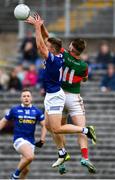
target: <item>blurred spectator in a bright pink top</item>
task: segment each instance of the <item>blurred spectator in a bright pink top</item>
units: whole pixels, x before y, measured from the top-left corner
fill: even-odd
[[[23,80],[24,87],[33,87],[37,85],[38,75],[34,64],[31,64],[29,70],[25,74],[25,79]]]

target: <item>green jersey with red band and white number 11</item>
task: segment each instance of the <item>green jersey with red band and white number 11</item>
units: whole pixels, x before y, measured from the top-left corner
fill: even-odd
[[[81,80],[88,76],[88,65],[65,50],[62,53],[64,57],[62,88],[70,93],[80,93]]]

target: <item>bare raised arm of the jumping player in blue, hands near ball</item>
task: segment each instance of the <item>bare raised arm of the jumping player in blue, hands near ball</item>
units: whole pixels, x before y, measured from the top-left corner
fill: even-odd
[[[42,32],[41,32],[41,29],[42,29],[41,26],[43,26],[43,20],[40,19],[39,15],[35,15],[34,18],[30,16],[26,22],[34,25],[38,51],[44,59],[47,59],[49,51],[47,49],[47,46],[45,45],[44,39],[42,37]]]

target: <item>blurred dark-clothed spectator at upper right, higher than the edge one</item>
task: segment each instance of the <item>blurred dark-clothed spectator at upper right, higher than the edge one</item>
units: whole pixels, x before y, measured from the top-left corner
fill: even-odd
[[[96,57],[96,69],[107,69],[107,65],[113,63],[112,52],[110,46],[106,41],[100,44],[99,52]]]

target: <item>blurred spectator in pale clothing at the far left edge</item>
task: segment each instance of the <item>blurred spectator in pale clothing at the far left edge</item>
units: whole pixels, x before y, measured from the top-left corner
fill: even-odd
[[[0,69],[0,90],[7,90],[9,76],[3,70]]]

